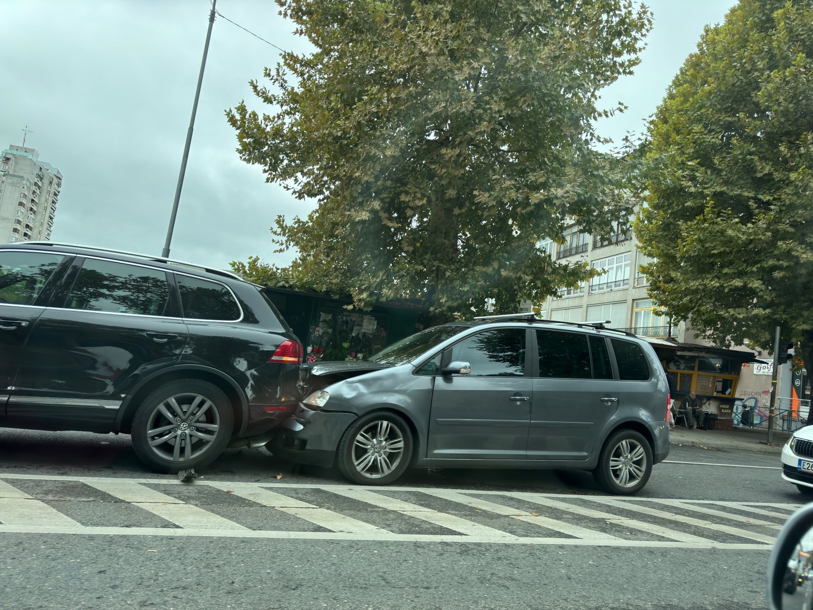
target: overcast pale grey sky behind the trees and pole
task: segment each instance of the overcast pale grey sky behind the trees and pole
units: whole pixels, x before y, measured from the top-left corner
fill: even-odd
[[[653,0],[649,46],[635,76],[606,89],[628,105],[599,124],[641,133],[706,24],[734,0]],[[167,230],[206,37],[209,0],[2,0],[0,149],[22,144],[63,173],[52,239],[159,255]],[[272,0],[219,0],[228,19],[284,49],[307,41]],[[218,19],[211,37],[171,256],[228,268],[258,254],[276,264],[268,228],[307,215],[260,168],[237,156],[224,110],[253,97],[248,81],[278,51]]]

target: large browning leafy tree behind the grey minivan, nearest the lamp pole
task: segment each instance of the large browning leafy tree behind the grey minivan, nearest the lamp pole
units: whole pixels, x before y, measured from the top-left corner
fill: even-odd
[[[592,275],[537,246],[626,217],[620,162],[593,150],[600,89],[637,65],[632,0],[277,0],[315,46],[283,54],[273,114],[228,111],[238,151],[298,198],[281,272],[367,307],[422,298],[438,316],[513,311]],[[280,272],[280,270],[275,270]]]

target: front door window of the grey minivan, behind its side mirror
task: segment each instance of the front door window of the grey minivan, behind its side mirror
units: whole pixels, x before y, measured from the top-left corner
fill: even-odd
[[[478,377],[522,377],[525,330],[489,330],[464,339],[452,347],[451,362],[471,364]]]

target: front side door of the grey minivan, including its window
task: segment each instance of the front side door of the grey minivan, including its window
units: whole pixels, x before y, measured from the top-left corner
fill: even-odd
[[[435,379],[428,458],[524,459],[533,401],[528,332],[489,330],[450,348],[445,362],[467,362],[472,373]]]

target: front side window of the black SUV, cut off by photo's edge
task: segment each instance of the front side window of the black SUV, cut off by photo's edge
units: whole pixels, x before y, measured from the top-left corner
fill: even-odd
[[[0,252],[0,303],[33,305],[64,258],[48,252]]]

